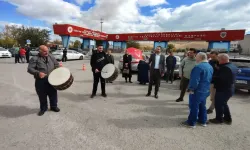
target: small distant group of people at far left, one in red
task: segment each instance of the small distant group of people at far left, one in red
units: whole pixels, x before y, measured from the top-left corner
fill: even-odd
[[[30,60],[30,47],[22,46],[15,47],[14,50],[15,63],[29,63]]]

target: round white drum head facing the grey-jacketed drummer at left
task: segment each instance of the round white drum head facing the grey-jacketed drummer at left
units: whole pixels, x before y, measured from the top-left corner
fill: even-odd
[[[49,75],[49,83],[54,86],[61,85],[70,78],[70,71],[65,67],[60,67],[53,70]]]

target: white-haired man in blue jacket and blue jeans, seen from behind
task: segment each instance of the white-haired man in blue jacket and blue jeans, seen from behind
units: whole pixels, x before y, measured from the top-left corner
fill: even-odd
[[[213,76],[213,68],[207,61],[207,54],[200,52],[196,56],[197,65],[192,69],[189,91],[189,109],[188,120],[182,124],[195,128],[196,122],[206,126],[207,110],[206,99],[210,94],[210,83]]]

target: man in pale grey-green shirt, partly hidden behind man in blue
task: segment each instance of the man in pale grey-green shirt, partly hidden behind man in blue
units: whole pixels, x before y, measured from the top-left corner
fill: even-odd
[[[188,57],[184,58],[181,62],[181,69],[180,69],[180,76],[181,78],[181,93],[180,97],[176,100],[176,102],[182,102],[183,98],[185,96],[188,84],[189,84],[189,79],[190,79],[190,74],[192,69],[194,68],[196,62],[195,62],[195,55],[196,55],[196,50],[194,48],[190,48],[188,51]]]

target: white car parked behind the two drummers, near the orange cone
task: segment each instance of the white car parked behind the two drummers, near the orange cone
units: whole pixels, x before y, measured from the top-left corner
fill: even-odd
[[[52,53],[52,55],[54,55],[54,57],[57,60],[62,60],[63,57],[63,51],[62,50],[56,50]],[[82,53],[79,53],[77,51],[74,50],[67,50],[67,59],[68,60],[83,60],[83,58],[85,57],[85,55],[83,55]]]

